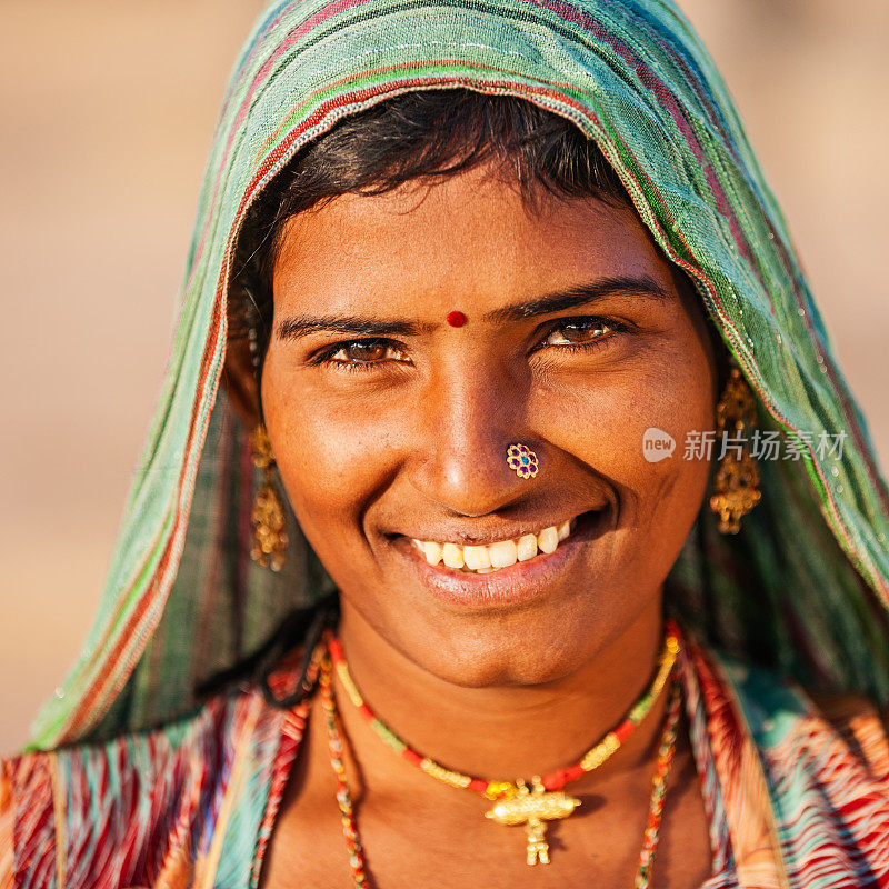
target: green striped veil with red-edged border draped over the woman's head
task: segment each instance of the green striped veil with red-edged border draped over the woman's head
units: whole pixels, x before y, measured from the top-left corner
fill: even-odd
[[[739,535],[720,535],[705,502],[668,579],[677,607],[729,652],[889,701],[887,486],[731,98],[673,3],[277,0],[224,97],[100,611],[31,747],[188,711],[197,686],[330,591],[292,515],[286,570],[249,558],[258,479],[220,386],[238,232],[262,188],[340,118],[455,87],[520,97],[596,141],[696,282],[760,428],[798,446],[798,459],[760,461],[762,501]]]

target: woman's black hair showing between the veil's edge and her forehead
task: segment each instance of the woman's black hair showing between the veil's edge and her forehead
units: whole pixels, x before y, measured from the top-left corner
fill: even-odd
[[[580,128],[511,96],[420,90],[348,116],[307,144],[256,199],[238,238],[229,301],[232,337],[247,337],[257,377],[271,333],[272,273],[287,220],[340,194],[382,194],[483,163],[530,206],[541,190],[632,208],[618,174]]]

